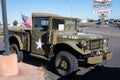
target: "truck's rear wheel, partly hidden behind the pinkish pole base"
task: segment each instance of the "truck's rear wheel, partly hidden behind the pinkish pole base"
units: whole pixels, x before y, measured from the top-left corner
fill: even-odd
[[[10,50],[11,50],[12,53],[17,54],[18,62],[21,62],[23,60],[23,52],[19,51],[19,48],[16,44],[11,44]]]

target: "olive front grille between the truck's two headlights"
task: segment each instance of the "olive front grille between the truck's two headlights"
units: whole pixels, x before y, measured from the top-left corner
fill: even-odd
[[[101,39],[91,40],[90,41],[90,50],[102,48],[101,44],[102,44],[102,40]]]

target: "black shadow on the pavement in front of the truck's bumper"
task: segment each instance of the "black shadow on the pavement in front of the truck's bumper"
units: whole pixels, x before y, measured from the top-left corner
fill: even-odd
[[[84,75],[74,73],[61,77],[58,80],[118,80],[120,79],[120,68],[98,67]]]

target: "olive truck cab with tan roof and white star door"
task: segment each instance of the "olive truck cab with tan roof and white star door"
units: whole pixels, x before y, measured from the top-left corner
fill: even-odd
[[[33,53],[48,55],[51,48],[64,43],[65,33],[76,32],[77,18],[65,18],[54,14],[33,13],[32,46]],[[66,34],[67,35],[67,34]],[[65,44],[65,43],[64,43]],[[52,54],[53,55],[53,54]]]

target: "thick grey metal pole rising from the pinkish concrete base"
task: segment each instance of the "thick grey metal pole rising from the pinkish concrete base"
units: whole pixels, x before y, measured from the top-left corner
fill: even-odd
[[[3,29],[4,29],[4,43],[5,43],[5,53],[3,55],[10,55],[9,41],[8,41],[8,27],[7,27],[7,10],[6,10],[6,0],[1,0],[2,16],[3,16]]]

